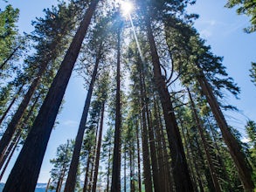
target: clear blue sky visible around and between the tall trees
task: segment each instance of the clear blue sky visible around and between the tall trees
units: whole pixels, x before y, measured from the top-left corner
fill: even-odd
[[[1,0],[0,0],[1,1]],[[19,29],[20,32],[30,32],[31,20],[43,16],[42,10],[57,3],[56,0],[10,0],[14,7],[20,9]],[[6,3],[1,1],[0,7]],[[201,33],[201,37],[211,45],[212,51],[224,57],[224,65],[227,72],[241,87],[239,100],[227,96],[226,102],[237,106],[246,117],[256,120],[256,87],[250,81],[249,69],[251,62],[256,62],[256,33],[246,34],[243,28],[248,26],[249,19],[237,16],[234,9],[224,7],[225,1],[220,0],[197,0],[197,4],[190,7],[190,12],[200,15],[195,27]],[[79,126],[80,115],[86,99],[86,90],[83,88],[82,80],[73,73],[65,95],[65,104],[62,113],[59,114],[59,124],[52,131],[48,144],[41,173],[38,182],[47,182],[52,168],[49,160],[54,157],[59,144],[65,143],[67,139],[74,139]],[[244,133],[246,117],[240,113],[225,113],[230,125]],[[15,161],[14,159],[12,160]],[[9,168],[10,171],[10,168]],[[5,182],[8,172],[4,175]]]

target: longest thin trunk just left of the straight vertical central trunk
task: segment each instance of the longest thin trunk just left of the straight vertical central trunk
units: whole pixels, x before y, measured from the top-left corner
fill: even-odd
[[[103,120],[104,120],[104,111],[105,111],[105,101],[102,102],[101,106],[101,114],[100,114],[100,133],[98,137],[97,143],[97,153],[96,153],[96,162],[95,162],[95,170],[94,170],[94,178],[93,178],[93,192],[96,191],[97,180],[98,180],[98,172],[99,172],[99,164],[100,164],[100,147],[101,147],[101,138],[102,138],[102,130],[103,130]]]

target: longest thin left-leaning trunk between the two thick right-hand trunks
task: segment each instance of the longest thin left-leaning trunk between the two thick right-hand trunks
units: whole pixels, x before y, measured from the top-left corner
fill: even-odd
[[[203,132],[203,127],[201,126],[201,122],[200,122],[199,117],[197,115],[196,105],[194,103],[194,100],[192,99],[192,96],[191,96],[191,93],[190,93],[190,89],[187,88],[187,90],[188,90],[189,97],[190,97],[191,109],[192,109],[193,114],[194,114],[193,116],[194,116],[194,118],[196,120],[197,128],[198,128],[201,140],[203,142],[204,152],[206,154],[206,159],[207,159],[207,162],[208,162],[208,165],[209,165],[209,168],[210,168],[210,172],[211,172],[211,179],[212,179],[212,182],[214,184],[215,190],[217,192],[220,192],[221,191],[221,187],[220,187],[219,182],[218,182],[217,172],[216,172],[216,170],[214,168],[214,165],[212,163],[212,160],[211,160],[211,154],[210,154],[210,151],[209,151],[210,150],[209,144],[205,140],[204,132]]]

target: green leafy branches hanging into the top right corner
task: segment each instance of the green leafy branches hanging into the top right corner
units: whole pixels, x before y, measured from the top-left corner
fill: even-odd
[[[245,14],[251,17],[251,26],[247,27],[245,31],[247,33],[256,31],[256,2],[255,0],[228,0],[225,4],[227,8],[233,8],[238,6],[237,13]]]

